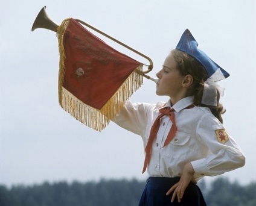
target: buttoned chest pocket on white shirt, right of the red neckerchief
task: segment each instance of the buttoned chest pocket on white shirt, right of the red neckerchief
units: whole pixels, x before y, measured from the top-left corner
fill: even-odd
[[[171,142],[164,148],[161,148],[161,155],[163,157],[185,160],[188,152],[189,140],[190,134],[177,131],[173,140],[171,140]]]

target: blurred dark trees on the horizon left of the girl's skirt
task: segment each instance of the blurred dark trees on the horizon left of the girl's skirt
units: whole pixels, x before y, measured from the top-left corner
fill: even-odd
[[[43,183],[35,186],[0,186],[0,206],[99,206],[138,205],[145,182],[105,180],[68,184]]]

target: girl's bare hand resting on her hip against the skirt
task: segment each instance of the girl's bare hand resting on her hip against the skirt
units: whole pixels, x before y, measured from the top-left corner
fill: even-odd
[[[192,183],[196,184],[196,180],[194,179],[194,168],[191,163],[187,163],[182,170],[181,179],[179,179],[179,182],[174,184],[174,186],[172,186],[171,189],[166,193],[166,195],[170,195],[170,193],[174,191],[171,202],[174,201],[176,196],[178,198],[178,202],[181,202],[185,189],[188,187],[188,184],[190,184],[191,181]]]

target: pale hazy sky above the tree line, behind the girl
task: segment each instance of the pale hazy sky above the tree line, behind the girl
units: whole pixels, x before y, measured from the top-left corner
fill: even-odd
[[[147,178],[141,175],[141,137],[113,122],[101,133],[94,131],[60,107],[56,34],[45,29],[31,32],[45,5],[57,24],[67,17],[81,19],[150,57],[154,67],[149,75],[154,78],[188,28],[199,49],[231,75],[220,83],[226,88],[223,120],[245,153],[246,165],[222,176],[240,184],[256,181],[255,0],[16,0],[0,2],[0,184]],[[130,100],[167,101],[167,96],[155,95],[155,87],[145,79]]]

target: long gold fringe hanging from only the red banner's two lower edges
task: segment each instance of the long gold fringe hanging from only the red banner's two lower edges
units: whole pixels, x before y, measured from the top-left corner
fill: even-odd
[[[86,126],[102,131],[109,124],[110,119],[119,113],[130,96],[143,84],[143,76],[139,73],[142,73],[142,65],[132,72],[101,110],[86,105],[64,87],[61,90],[60,105],[63,110]]]

